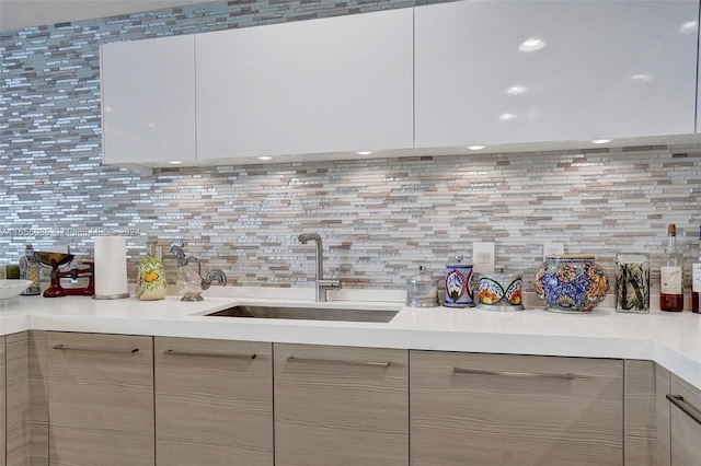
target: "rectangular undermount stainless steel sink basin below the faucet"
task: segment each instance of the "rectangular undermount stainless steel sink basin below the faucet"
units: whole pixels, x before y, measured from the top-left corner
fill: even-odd
[[[399,310],[353,310],[334,307],[285,307],[238,305],[218,311],[211,317],[290,318],[302,321],[390,322]]]

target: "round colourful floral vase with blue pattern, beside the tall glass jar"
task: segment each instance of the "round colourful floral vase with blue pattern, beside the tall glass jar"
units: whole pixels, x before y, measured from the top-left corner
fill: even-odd
[[[594,256],[547,256],[533,277],[536,293],[549,311],[588,313],[609,291],[609,276]]]

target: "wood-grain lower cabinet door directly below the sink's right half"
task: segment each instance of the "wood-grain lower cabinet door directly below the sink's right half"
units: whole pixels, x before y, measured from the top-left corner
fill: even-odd
[[[407,356],[275,343],[275,466],[406,466]]]

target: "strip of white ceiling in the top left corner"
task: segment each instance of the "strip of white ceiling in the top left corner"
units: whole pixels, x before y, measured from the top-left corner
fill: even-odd
[[[0,31],[91,20],[211,0],[0,0]]]

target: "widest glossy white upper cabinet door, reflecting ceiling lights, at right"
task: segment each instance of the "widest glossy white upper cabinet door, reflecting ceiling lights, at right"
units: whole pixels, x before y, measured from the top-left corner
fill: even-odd
[[[415,9],[415,145],[694,131],[699,2]]]

